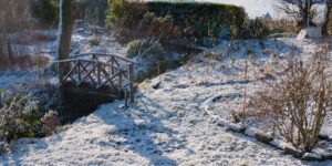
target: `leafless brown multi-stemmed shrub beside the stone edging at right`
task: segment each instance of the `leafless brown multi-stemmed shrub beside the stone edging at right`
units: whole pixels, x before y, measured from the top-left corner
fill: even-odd
[[[317,144],[331,106],[326,52],[323,46],[309,61],[290,60],[290,70],[277,81],[266,82],[267,89],[251,103],[251,108],[259,111],[257,115],[272,117],[273,128],[303,152]]]

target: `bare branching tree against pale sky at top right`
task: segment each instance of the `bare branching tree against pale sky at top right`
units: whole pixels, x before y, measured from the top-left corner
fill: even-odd
[[[315,25],[312,21],[315,11],[312,10],[313,4],[320,3],[321,0],[282,0],[280,9],[292,17],[298,27]]]

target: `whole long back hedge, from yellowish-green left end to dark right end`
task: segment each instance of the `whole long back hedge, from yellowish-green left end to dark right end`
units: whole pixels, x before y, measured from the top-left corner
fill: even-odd
[[[241,7],[200,2],[128,2],[125,0],[110,1],[106,25],[116,35],[148,38],[152,29],[146,29],[146,15],[154,15],[148,27],[166,27],[168,31],[178,33],[177,38],[191,43],[201,43],[204,38],[239,39],[245,33],[247,14]],[[158,21],[158,20],[166,20]],[[169,21],[170,20],[170,23]],[[168,22],[168,25],[165,23]],[[153,25],[152,25],[153,23]],[[160,25],[162,24],[162,25]],[[226,31],[225,31],[226,30]],[[132,34],[131,34],[132,33]],[[141,34],[141,35],[139,35]],[[160,33],[153,33],[159,37]],[[169,35],[169,34],[164,34]],[[133,38],[133,39],[131,39]],[[162,37],[163,38],[163,37]],[[177,38],[173,41],[179,41]],[[168,39],[172,41],[172,39]],[[162,41],[162,43],[164,43]]]

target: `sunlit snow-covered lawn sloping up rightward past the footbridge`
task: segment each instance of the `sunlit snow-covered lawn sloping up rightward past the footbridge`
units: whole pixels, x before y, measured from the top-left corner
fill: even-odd
[[[259,85],[260,69],[273,70],[278,60],[313,53],[315,41],[294,38],[266,41],[224,41],[211,51],[222,60],[197,55],[188,64],[138,85],[136,103],[124,101],[100,106],[50,137],[23,138],[2,165],[332,165],[307,163],[243,135],[226,132],[207,114],[206,102],[222,95],[214,105],[216,116],[231,118],[241,106],[246,86]],[[229,49],[231,45],[231,49]],[[248,53],[252,54],[250,58]],[[249,77],[243,81],[245,62]],[[159,87],[153,89],[160,82]],[[238,103],[238,104],[237,104]],[[329,124],[329,123],[326,123]],[[330,131],[331,127],[324,129]]]

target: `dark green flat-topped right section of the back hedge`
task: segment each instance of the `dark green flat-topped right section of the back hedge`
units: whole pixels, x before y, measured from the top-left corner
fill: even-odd
[[[170,14],[185,35],[197,39],[217,38],[222,29],[229,37],[240,38],[247,14],[242,7],[200,2],[147,2],[148,10],[157,17]],[[191,29],[186,31],[187,29]],[[235,33],[236,32],[236,33]]]

